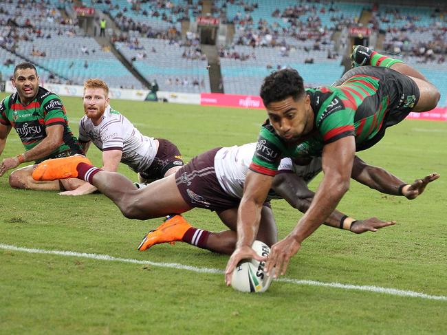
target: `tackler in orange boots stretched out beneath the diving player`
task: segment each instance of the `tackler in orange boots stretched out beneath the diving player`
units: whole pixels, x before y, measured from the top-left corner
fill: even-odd
[[[241,147],[206,151],[182,166],[175,175],[157,180],[141,189],[136,189],[127,177],[119,173],[91,166],[82,156],[75,156],[70,160],[47,160],[36,168],[33,176],[44,180],[52,177],[76,176],[86,180],[109,197],[125,217],[131,219],[151,219],[180,214],[195,207],[215,210],[223,224],[230,230],[211,233],[194,228],[182,216],[174,215],[146,235],[139,249],[146,250],[154,244],[185,241],[199,248],[230,254],[235,250],[237,208],[255,149],[256,143],[252,143]],[[402,180],[383,169],[369,166],[359,158],[356,158],[355,166],[353,178],[385,193],[414,198],[424,191],[426,185],[415,183],[399,188],[404,184]],[[292,171],[294,173],[291,173]],[[283,173],[276,175],[272,191],[277,193],[276,197],[283,197],[295,208],[305,211],[313,196],[307,188],[307,182],[320,171],[320,158],[308,161],[305,166],[292,166],[291,160],[286,158],[281,164]],[[430,176],[424,180],[427,183]],[[272,197],[275,197],[273,193],[268,199]],[[264,202],[260,215],[261,225],[257,239],[272,246],[276,242],[277,234],[268,202]],[[351,230],[354,233],[375,231],[395,223],[380,221],[375,217],[355,221],[337,210],[329,215],[326,222],[330,226]]]

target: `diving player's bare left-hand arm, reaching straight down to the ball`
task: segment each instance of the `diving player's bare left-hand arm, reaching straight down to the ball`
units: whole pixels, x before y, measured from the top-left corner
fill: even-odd
[[[259,229],[261,210],[268,195],[273,177],[254,171],[248,171],[243,188],[243,197],[237,211],[236,249],[228,260],[225,270],[226,285],[230,285],[232,272],[242,259],[254,258],[265,261],[251,248]]]

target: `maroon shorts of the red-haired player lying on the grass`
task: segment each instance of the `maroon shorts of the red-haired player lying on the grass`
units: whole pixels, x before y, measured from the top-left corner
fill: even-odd
[[[140,175],[146,180],[158,180],[164,177],[164,174],[174,166],[183,166],[183,158],[179,149],[164,138],[158,140],[157,155],[153,159],[151,166],[146,171],[140,171]]]

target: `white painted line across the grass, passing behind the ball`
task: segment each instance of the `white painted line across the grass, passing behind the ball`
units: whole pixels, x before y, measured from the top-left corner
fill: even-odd
[[[120,257],[109,256],[109,255],[87,254],[85,252],[21,248],[18,246],[11,246],[9,244],[0,244],[0,249],[29,252],[31,254],[47,254],[47,255],[68,256],[68,257],[83,257],[83,258],[89,258],[89,259],[98,259],[100,261],[120,261],[122,263],[134,263],[134,264],[142,264],[142,265],[159,266],[161,268],[173,268],[173,269],[188,270],[188,271],[199,272],[199,273],[223,274],[222,270],[212,269],[212,268],[197,268],[195,266],[186,266],[184,264],[179,264],[179,263],[157,263],[157,262],[153,262],[153,261],[140,261],[138,259],[120,258]],[[375,292],[375,293],[392,294],[392,295],[396,295],[396,296],[409,296],[411,298],[422,298],[422,299],[430,299],[430,300],[447,301],[447,296],[433,296],[433,295],[424,294],[424,293],[420,293],[420,292],[397,290],[395,288],[381,288],[380,286],[351,285],[351,284],[342,284],[342,283],[324,283],[322,281],[308,281],[308,280],[298,280],[298,279],[288,279],[288,278],[276,279],[276,281],[280,281],[283,283],[292,283],[292,284],[296,284],[296,285],[324,286],[324,287],[328,287],[328,288],[342,288],[345,290],[369,291],[369,292]]]

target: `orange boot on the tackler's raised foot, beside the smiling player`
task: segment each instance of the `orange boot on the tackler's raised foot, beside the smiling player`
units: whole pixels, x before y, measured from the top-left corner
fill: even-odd
[[[79,163],[91,165],[90,160],[83,155],[44,160],[32,171],[34,180],[58,180],[78,177],[76,166]]]

